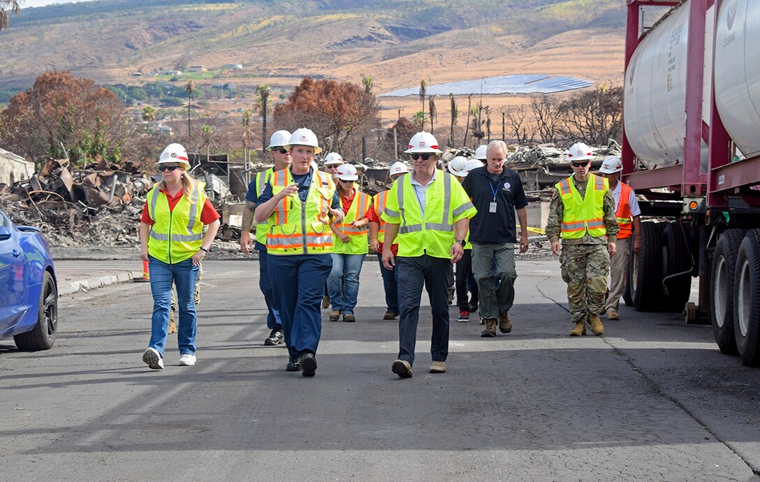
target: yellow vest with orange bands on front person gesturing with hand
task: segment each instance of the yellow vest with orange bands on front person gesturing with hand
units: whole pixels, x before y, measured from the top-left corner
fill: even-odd
[[[293,184],[290,169],[274,171],[270,183],[272,193]],[[321,255],[332,251],[329,208],[335,185],[325,173],[312,170],[312,184],[306,202],[299,195],[286,196],[277,203],[269,217],[267,252],[271,255]]]

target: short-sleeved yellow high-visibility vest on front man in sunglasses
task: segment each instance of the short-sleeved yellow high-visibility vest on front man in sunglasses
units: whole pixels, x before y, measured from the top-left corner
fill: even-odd
[[[386,222],[399,224],[398,236],[394,240],[398,243],[398,255],[451,258],[454,224],[477,213],[472,201],[454,176],[438,170],[425,190],[423,218],[411,179],[411,174],[404,174],[393,183],[382,214]]]

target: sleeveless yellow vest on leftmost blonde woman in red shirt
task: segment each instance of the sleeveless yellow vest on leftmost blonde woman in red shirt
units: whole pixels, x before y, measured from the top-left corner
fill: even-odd
[[[154,221],[147,240],[147,252],[154,258],[176,264],[201,249],[203,223],[201,213],[206,203],[205,183],[196,182],[190,198],[182,195],[172,211],[169,199],[156,184],[147,193],[148,215]]]

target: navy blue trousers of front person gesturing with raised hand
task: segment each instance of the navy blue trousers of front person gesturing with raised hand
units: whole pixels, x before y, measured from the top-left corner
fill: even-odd
[[[274,298],[280,308],[285,345],[291,357],[317,353],[322,332],[320,303],[330,274],[330,255],[269,255]]]

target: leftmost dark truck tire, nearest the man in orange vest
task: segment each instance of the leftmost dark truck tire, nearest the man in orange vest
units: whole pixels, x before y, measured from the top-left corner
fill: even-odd
[[[638,311],[657,309],[662,300],[662,251],[660,233],[662,223],[641,223],[641,249],[631,256],[629,290],[633,306]]]

